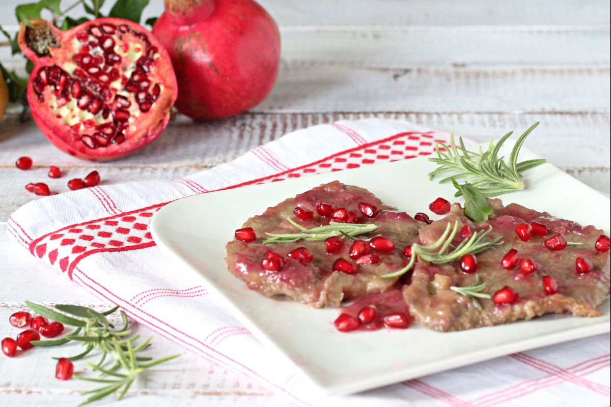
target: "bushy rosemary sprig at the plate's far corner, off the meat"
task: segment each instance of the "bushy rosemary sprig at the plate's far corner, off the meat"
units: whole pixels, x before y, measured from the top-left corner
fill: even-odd
[[[432,180],[437,175],[452,173],[452,175],[441,179],[439,183],[450,182],[452,178],[462,178],[469,181],[485,196],[496,196],[524,189],[524,182],[520,180],[521,171],[529,170],[545,162],[544,159],[535,159],[518,163],[518,154],[526,137],[538,125],[539,122],[530,126],[516,141],[509,156],[509,164],[505,163],[504,157],[499,157],[499,150],[505,140],[513,134],[513,131],[503,135],[496,144],[491,140],[488,151],[482,151],[480,147],[479,153],[467,150],[462,137],[458,139],[459,148],[457,148],[454,135],[452,135],[449,147],[445,143],[436,143],[437,157],[432,157],[429,160],[439,165],[439,168],[431,171],[428,176]],[[442,151],[442,149],[445,151]],[[455,193],[455,196],[461,195],[460,190]]]

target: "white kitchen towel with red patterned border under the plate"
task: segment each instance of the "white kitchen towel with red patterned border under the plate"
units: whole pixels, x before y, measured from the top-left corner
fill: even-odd
[[[102,184],[32,201],[9,218],[8,231],[96,297],[294,405],[609,405],[608,334],[349,397],[323,397],[207,295],[193,273],[176,270],[149,232],[153,214],[185,196],[428,155],[437,141],[447,143],[448,134],[406,121],[321,124],[186,178]]]

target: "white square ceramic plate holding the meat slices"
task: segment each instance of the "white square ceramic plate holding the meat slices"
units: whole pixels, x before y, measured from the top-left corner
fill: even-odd
[[[502,153],[507,157],[512,140]],[[486,146],[484,146],[486,148]],[[522,148],[519,159],[538,158]],[[244,325],[268,347],[289,358],[326,394],[349,394],[497,358],[517,351],[609,332],[609,300],[598,318],[547,315],[529,322],[437,333],[417,324],[408,330],[340,333],[337,309],[311,309],[273,300],[246,288],[227,271],[225,244],[247,218],[338,179],[364,187],[384,203],[414,214],[437,196],[453,197],[451,184],[429,181],[426,157],[371,165],[270,184],[210,192],[163,207],[152,222],[159,247],[187,264]],[[537,211],[596,225],[609,234],[610,201],[551,164],[525,171],[525,190],[501,196]],[[210,214],[214,214],[211,216]]]

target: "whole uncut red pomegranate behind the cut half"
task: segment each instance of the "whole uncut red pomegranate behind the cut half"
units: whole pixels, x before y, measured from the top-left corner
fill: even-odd
[[[200,120],[251,109],[276,81],[280,34],[252,0],[164,0],[153,34],[166,47],[178,79],[176,107]]]

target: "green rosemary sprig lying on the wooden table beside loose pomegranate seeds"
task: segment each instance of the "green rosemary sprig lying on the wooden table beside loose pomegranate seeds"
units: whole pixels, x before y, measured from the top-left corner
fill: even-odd
[[[114,325],[112,325],[112,323],[106,319],[106,316],[117,311],[119,306],[111,308],[105,312],[97,312],[83,306],[57,304],[55,309],[62,311],[58,312],[55,311],[55,309],[46,308],[42,305],[34,304],[29,301],[26,301],[26,305],[32,309],[32,311],[35,311],[48,319],[53,319],[57,322],[63,323],[64,325],[76,327],[76,330],[73,333],[60,339],[32,340],[32,345],[37,347],[53,347],[67,344],[72,340],[81,342],[82,346],[86,347],[86,350],[78,355],[68,358],[71,361],[84,358],[94,349],[100,351],[100,360],[96,364],[86,362],[87,366],[89,366],[93,371],[100,373],[99,377],[85,377],[79,375],[72,376],[73,378],[79,380],[104,383],[104,386],[102,387],[82,393],[83,395],[89,395],[89,398],[87,398],[87,400],[82,402],[79,406],[100,400],[101,398],[106,397],[118,390],[121,390],[117,396],[117,400],[120,400],[126,394],[128,389],[130,389],[130,386],[134,380],[136,380],[137,375],[144,372],[145,369],[180,356],[172,355],[165,358],[152,360],[153,358],[148,356],[138,355],[139,352],[147,349],[150,346],[151,337],[148,337],[148,339],[144,340],[144,342],[136,345],[136,340],[140,338],[140,335],[130,336],[131,330],[128,329],[129,320],[123,311],[120,311],[123,326],[120,329],[115,329]],[[114,362],[111,366],[107,367],[104,366],[104,362],[106,361],[106,357],[108,355],[112,356]],[[109,361],[109,363],[110,362],[111,361]]]

